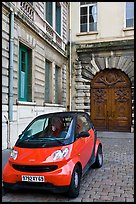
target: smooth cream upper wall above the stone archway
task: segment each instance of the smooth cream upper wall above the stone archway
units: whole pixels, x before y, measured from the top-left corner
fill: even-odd
[[[71,2],[72,42],[133,38],[134,29],[125,28],[125,3],[97,2],[97,32],[80,33],[80,2]]]

